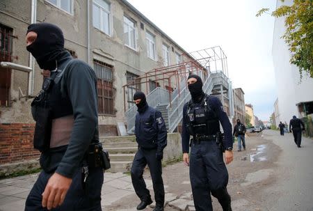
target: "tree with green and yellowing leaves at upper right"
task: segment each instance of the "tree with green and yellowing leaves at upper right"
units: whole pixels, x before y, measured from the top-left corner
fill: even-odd
[[[268,8],[262,8],[256,16],[268,11]],[[313,78],[313,1],[294,0],[291,6],[280,6],[269,14],[273,17],[285,17],[287,29],[282,38],[289,45],[290,63],[299,68],[301,78],[303,71]]]

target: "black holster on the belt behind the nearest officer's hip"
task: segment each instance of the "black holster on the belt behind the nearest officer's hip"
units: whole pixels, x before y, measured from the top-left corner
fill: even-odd
[[[104,170],[111,168],[110,157],[107,150],[103,150],[102,143],[91,143],[87,155],[90,169],[102,167]]]

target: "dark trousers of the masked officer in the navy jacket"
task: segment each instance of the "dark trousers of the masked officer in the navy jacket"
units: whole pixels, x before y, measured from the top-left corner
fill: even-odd
[[[154,198],[156,205],[163,207],[164,205],[164,185],[162,179],[162,162],[156,158],[157,149],[145,150],[139,148],[134,162],[131,166],[131,181],[135,192],[141,201],[146,201],[150,198],[150,192],[143,180],[143,170],[148,165],[153,183]]]

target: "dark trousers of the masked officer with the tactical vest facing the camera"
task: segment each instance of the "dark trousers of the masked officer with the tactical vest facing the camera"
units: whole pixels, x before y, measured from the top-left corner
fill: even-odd
[[[228,172],[216,141],[192,143],[189,174],[195,210],[213,210],[211,194],[218,199],[224,211],[231,210],[226,188]]]

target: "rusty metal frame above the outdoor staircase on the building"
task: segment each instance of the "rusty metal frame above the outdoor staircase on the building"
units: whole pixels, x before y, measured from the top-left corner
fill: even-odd
[[[148,86],[150,80],[154,81],[157,84],[157,81],[163,81],[163,88],[169,91],[169,99],[171,103],[171,93],[172,88],[177,88],[177,94],[180,95],[180,87],[182,81],[186,86],[187,77],[190,74],[197,74],[202,77],[202,79],[207,79],[209,74],[213,72],[223,72],[224,75],[228,77],[228,68],[227,68],[227,56],[219,46],[210,47],[207,49],[201,49],[189,54],[182,54],[182,58],[193,58],[190,61],[184,61],[176,65],[169,65],[161,68],[154,68],[148,72],[145,72],[144,75],[130,81],[125,84],[123,87],[124,91],[124,109],[126,112],[126,90],[128,86],[136,86],[138,84],[145,84],[145,91],[148,94]],[[173,80],[174,79],[174,80]],[[175,81],[175,83],[172,83]],[[168,88],[166,88],[168,84]],[[175,86],[173,86],[175,85]],[[151,91],[150,91],[151,92]]]

